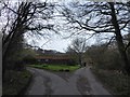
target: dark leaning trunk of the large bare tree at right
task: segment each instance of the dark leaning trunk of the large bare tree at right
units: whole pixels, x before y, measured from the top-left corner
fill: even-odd
[[[125,65],[125,71],[127,74],[130,74],[130,64],[127,57],[127,53],[125,51],[125,44],[122,41],[122,36],[121,36],[121,31],[119,29],[119,24],[116,17],[116,12],[115,12],[115,8],[114,8],[114,2],[109,2],[110,5],[110,10],[112,10],[112,24],[115,28],[115,34],[116,34],[116,41],[117,41],[117,45],[118,45],[118,51],[121,55],[123,65]]]

